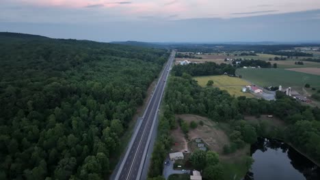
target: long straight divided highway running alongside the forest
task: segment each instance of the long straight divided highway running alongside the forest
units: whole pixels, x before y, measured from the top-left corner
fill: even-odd
[[[165,83],[167,82],[168,75],[170,73],[170,67],[174,61],[175,53],[175,51],[172,51],[168,62],[163,68],[155,90],[152,93],[152,97],[144,111],[144,116],[133,133],[133,137],[131,138],[126,154],[124,155],[120,167],[116,172],[116,180],[139,180],[141,177],[152,130],[157,124],[155,122],[159,106],[165,89]]]

